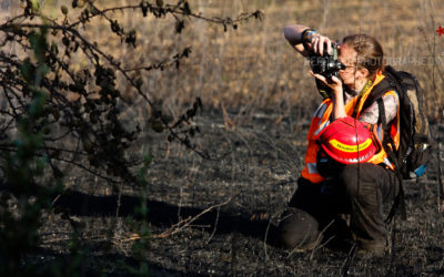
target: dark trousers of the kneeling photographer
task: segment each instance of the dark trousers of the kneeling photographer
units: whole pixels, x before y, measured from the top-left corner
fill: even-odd
[[[392,206],[397,192],[394,172],[369,163],[346,165],[321,184],[301,177],[282,215],[281,240],[287,248],[303,248],[340,214],[350,214],[356,239],[385,242],[384,206]]]

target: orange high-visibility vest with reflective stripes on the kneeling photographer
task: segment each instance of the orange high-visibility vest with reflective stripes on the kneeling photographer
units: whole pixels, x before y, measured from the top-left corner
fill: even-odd
[[[377,72],[376,79],[373,82],[372,86],[366,90],[366,92],[360,98],[354,98],[349,103],[345,104],[345,113],[350,116],[353,115],[353,112],[355,110],[355,105],[357,104],[357,113],[356,113],[356,119],[360,117],[362,107],[364,105],[365,100],[372,92],[374,85],[380,83],[385,76],[382,74],[382,72]],[[395,91],[389,91],[384,95],[395,95],[397,98],[397,94]],[[360,99],[360,101],[359,101]],[[359,101],[359,103],[356,103]],[[305,167],[302,171],[302,177],[309,179],[311,183],[321,183],[324,181],[324,177],[322,177],[319,172],[317,172],[317,166],[316,166],[316,155],[317,151],[320,150],[320,145],[316,143],[316,138],[319,133],[326,127],[330,124],[330,119],[331,114],[333,111],[333,101],[331,99],[325,99],[321,105],[317,107],[317,110],[313,114],[312,122],[310,124],[310,130],[309,134],[306,136],[309,141],[309,146],[306,148],[306,154],[305,154]],[[397,148],[400,145],[400,116],[398,113],[400,107],[397,107],[396,112],[396,117],[394,119],[394,122],[391,124],[391,130],[390,134],[393,138],[393,142],[395,144],[395,147]],[[376,127],[376,135],[382,141],[383,136],[383,130],[382,126]],[[383,148],[381,148],[380,152],[377,152],[373,157],[371,157],[367,163],[372,164],[385,164],[389,168],[394,168],[392,163],[387,158],[387,154]]]

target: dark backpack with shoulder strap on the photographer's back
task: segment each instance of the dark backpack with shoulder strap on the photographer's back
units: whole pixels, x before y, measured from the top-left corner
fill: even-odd
[[[428,129],[426,110],[424,107],[424,91],[416,78],[405,71],[396,71],[387,65],[385,78],[376,84],[364,102],[362,111],[365,111],[375,101],[380,107],[379,123],[384,130],[383,147],[389,160],[395,166],[395,173],[400,181],[400,194],[387,217],[393,217],[395,209],[401,205],[401,212],[405,218],[404,192],[402,179],[414,179],[422,176],[432,160],[433,138]],[[400,147],[395,150],[389,126],[385,122],[385,109],[382,96],[387,91],[396,91],[400,100]]]

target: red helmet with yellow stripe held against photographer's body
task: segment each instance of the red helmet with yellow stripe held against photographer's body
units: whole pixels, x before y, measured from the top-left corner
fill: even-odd
[[[317,142],[330,157],[342,164],[365,163],[377,151],[369,129],[351,116],[332,122],[321,131]]]

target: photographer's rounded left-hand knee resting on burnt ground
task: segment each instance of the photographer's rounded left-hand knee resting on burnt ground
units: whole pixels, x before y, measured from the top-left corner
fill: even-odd
[[[285,248],[309,248],[319,235],[317,220],[306,212],[289,207],[279,225],[281,243]]]

